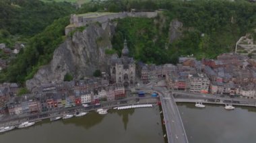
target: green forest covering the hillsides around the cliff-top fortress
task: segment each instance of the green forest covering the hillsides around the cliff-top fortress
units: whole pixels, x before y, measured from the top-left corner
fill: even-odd
[[[3,7],[1,7],[3,5]],[[0,2],[0,43],[11,48],[17,41],[26,48],[9,61],[0,73],[0,81],[24,83],[38,68],[51,61],[55,48],[65,40],[64,28],[71,13],[94,11],[154,11],[154,19],[129,17],[117,20],[112,44],[121,53],[127,38],[131,55],[146,63],[177,63],[179,56],[216,58],[232,52],[236,41],[254,34],[256,4],[248,1],[92,1],[75,9],[71,3],[38,0]],[[18,14],[19,13],[19,14]],[[181,36],[170,41],[170,23],[183,23]],[[113,52],[109,52],[113,54]]]

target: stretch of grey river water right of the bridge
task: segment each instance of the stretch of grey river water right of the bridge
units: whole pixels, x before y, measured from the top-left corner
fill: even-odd
[[[178,104],[189,143],[255,143],[256,108],[236,107],[232,111],[224,105]]]

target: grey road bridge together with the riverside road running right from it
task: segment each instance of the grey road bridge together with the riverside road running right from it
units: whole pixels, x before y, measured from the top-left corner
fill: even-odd
[[[220,97],[210,94],[189,93],[185,91],[170,91],[165,87],[140,87],[140,90],[150,93],[157,92],[160,95],[162,103],[162,111],[164,113],[164,122],[166,126],[166,134],[169,143],[182,142],[187,143],[187,135],[177,108],[176,102],[187,103],[210,103],[210,104],[232,104],[239,106],[256,107],[256,99],[243,99],[239,97]]]

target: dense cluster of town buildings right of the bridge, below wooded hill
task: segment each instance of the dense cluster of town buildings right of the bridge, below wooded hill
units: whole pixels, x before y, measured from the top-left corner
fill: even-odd
[[[256,60],[226,53],[216,60],[183,57],[179,61],[177,70],[166,77],[170,89],[256,98]]]

